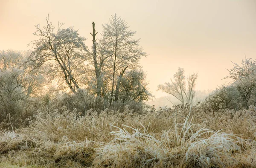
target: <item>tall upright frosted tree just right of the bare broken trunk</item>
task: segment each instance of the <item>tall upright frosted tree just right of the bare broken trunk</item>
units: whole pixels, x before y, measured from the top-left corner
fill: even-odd
[[[111,93],[110,104],[113,100],[114,86],[116,85],[116,98],[118,99],[119,86],[122,75],[119,75],[119,80],[116,78],[117,72],[122,74],[129,69],[136,69],[139,67],[139,60],[146,56],[146,52],[139,46],[139,40],[134,40],[133,36],[136,32],[129,30],[129,26],[125,20],[117,17],[115,14],[111,16],[109,23],[103,26],[105,54],[109,56],[108,61],[111,64]],[[121,74],[120,73],[120,74]],[[115,84],[116,83],[116,84]]]

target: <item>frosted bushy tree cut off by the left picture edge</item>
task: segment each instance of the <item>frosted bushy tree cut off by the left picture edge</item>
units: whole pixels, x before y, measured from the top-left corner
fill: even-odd
[[[28,53],[0,51],[0,111],[2,115],[18,114],[26,99],[42,89],[44,78],[22,64]]]

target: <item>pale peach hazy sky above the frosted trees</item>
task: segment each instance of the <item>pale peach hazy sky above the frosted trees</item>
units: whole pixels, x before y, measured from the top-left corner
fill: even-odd
[[[79,29],[90,47],[92,21],[101,32],[114,13],[149,54],[141,64],[156,97],[178,67],[198,72],[197,89],[208,90],[224,84],[231,60],[256,58],[256,0],[0,0],[0,50],[29,49],[48,14],[56,26]]]

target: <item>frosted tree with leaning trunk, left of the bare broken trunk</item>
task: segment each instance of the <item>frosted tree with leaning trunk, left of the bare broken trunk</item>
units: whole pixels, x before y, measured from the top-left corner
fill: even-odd
[[[59,24],[55,33],[55,26],[46,19],[47,26],[43,28],[36,25],[35,36],[38,40],[32,41],[34,50],[31,53],[29,62],[34,69],[40,68],[47,63],[50,79],[61,78],[65,81],[70,90],[76,93],[79,87],[79,79],[86,79],[85,61],[87,60],[86,40],[79,36],[78,30],[73,27],[61,29]]]

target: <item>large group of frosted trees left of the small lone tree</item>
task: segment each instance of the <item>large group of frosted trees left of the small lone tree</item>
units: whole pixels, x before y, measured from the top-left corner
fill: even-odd
[[[140,65],[147,53],[124,19],[114,14],[102,24],[102,33],[96,32],[93,22],[91,49],[78,30],[63,25],[54,26],[48,16],[45,26],[35,26],[36,38],[29,43],[29,51],[1,51],[2,114],[15,111],[12,108],[31,97],[50,94],[52,81],[58,90],[80,98],[86,93],[99,109],[128,102],[142,104],[153,97]]]

